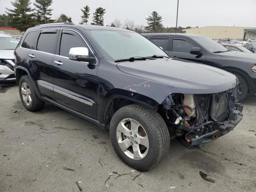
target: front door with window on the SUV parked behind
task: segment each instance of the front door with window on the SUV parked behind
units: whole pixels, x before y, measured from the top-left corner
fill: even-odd
[[[168,52],[171,56],[186,59],[194,62],[206,63],[206,53],[202,48],[204,53],[202,56],[190,54],[190,50],[193,47],[199,47],[188,38],[180,36],[172,36],[170,42],[170,51]]]

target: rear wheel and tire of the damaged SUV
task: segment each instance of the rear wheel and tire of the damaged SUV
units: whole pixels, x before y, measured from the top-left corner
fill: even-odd
[[[32,82],[27,75],[20,78],[19,92],[20,100],[27,110],[37,111],[44,107],[44,102],[36,95]]]

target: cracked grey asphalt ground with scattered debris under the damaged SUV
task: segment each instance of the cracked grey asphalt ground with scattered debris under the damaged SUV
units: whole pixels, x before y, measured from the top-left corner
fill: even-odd
[[[256,191],[255,98],[243,105],[244,118],[229,134],[201,150],[172,141],[154,169],[132,172],[115,154],[109,132],[51,104],[29,112],[17,86],[0,84],[0,192],[78,192],[76,181],[97,192]]]

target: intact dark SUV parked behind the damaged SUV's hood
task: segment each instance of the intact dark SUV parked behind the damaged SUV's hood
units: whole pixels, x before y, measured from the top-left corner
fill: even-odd
[[[142,34],[170,56],[218,67],[235,74],[240,82],[238,100],[256,95],[256,54],[230,51],[208,37],[194,34]]]

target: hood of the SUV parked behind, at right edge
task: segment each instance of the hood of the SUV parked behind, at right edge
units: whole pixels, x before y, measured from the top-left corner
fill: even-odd
[[[256,64],[256,54],[253,53],[244,53],[244,52],[236,52],[236,51],[228,51],[219,53],[220,56],[232,60],[241,60],[241,61],[247,61],[252,62]]]

